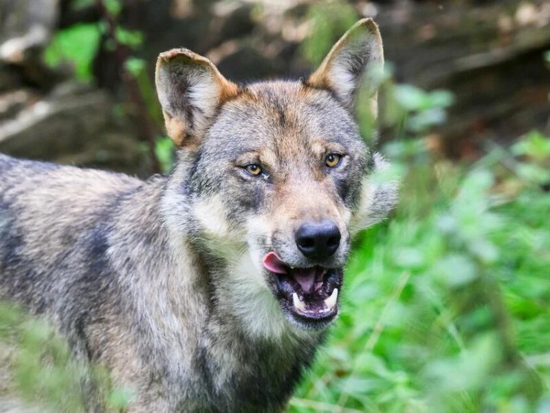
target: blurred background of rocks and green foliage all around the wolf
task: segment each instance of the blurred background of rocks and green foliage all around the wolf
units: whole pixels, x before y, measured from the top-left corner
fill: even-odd
[[[188,47],[237,82],[299,78],[362,17],[387,65],[380,134],[358,120],[401,200],[356,242],[289,411],[550,412],[550,1],[0,0],[0,151],[166,173],[159,52]],[[80,409],[69,361],[29,357],[63,346],[0,310],[8,390]]]

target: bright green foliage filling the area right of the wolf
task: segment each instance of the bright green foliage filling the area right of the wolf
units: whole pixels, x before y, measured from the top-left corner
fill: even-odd
[[[505,184],[523,178],[500,168],[507,151],[457,167],[419,142],[392,144],[401,203],[358,242],[292,412],[529,412],[549,396],[550,193],[526,184],[510,198]],[[549,144],[533,133],[514,151],[548,162]]]

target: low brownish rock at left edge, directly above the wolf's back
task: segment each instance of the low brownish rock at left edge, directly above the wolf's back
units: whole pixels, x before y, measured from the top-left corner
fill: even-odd
[[[37,100],[30,96],[21,90],[0,100],[0,110],[19,109],[10,117],[0,112],[1,152],[146,174],[144,153],[131,128],[113,120],[107,92],[63,83]]]

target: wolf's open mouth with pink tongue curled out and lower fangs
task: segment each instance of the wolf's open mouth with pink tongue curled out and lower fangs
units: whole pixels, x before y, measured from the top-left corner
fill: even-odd
[[[325,324],[338,314],[342,268],[292,268],[274,252],[265,255],[263,266],[276,275],[278,292],[298,321]]]

